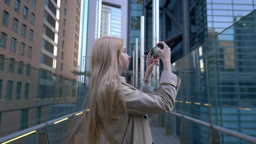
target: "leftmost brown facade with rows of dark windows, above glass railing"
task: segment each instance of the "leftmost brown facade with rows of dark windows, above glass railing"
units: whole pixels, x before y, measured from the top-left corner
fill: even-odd
[[[40,68],[44,9],[39,5],[44,5],[44,1],[1,1],[0,54],[2,57]]]

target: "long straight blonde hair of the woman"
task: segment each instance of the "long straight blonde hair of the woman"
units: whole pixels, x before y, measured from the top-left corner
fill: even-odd
[[[108,141],[107,128],[111,118],[127,115],[125,97],[119,73],[122,70],[121,53],[124,40],[103,37],[95,41],[91,53],[91,78],[89,84],[89,117],[87,140],[89,144]],[[104,141],[105,141],[104,140]]]

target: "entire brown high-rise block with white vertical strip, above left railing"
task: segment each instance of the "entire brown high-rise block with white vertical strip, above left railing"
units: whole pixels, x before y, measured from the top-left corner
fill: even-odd
[[[80,0],[1,2],[1,56],[77,80],[80,7]]]

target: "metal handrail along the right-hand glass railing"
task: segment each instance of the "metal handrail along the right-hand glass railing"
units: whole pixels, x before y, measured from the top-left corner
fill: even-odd
[[[179,114],[179,113],[177,113],[177,112],[169,112],[169,113],[171,113],[171,114],[173,114],[173,115],[175,115],[175,116],[179,116],[179,117],[181,117],[181,118],[185,118],[185,119],[187,119],[187,120],[189,120],[189,121],[195,122],[195,123],[197,123],[197,124],[201,124],[201,125],[206,126],[206,127],[209,127],[209,128],[210,128],[210,126],[212,126],[212,129],[214,129],[214,130],[217,130],[217,131],[219,131],[219,132],[226,133],[226,134],[228,134],[228,135],[230,135],[230,136],[234,136],[234,137],[236,137],[236,138],[240,138],[240,139],[242,139],[242,140],[246,140],[247,142],[251,142],[251,143],[256,144],[256,138],[253,137],[253,136],[249,136],[249,135],[246,135],[246,134],[242,134],[242,133],[240,133],[240,132],[236,132],[236,131],[234,131],[234,130],[230,130],[230,129],[227,129],[227,128],[223,128],[223,127],[221,127],[221,126],[217,126],[217,125],[214,125],[214,124],[210,124],[210,123],[208,123],[208,122],[204,122],[204,121],[202,121],[202,120],[198,120],[198,119],[192,118],[192,117],[190,117],[190,116],[185,116],[185,115]]]

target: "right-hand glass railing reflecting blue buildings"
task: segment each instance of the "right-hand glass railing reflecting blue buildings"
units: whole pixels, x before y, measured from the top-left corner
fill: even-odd
[[[177,60],[172,70],[181,78],[173,112],[256,137],[255,11]],[[157,124],[181,143],[204,144],[216,136],[172,114],[159,114]],[[248,143],[217,133],[220,143]]]

